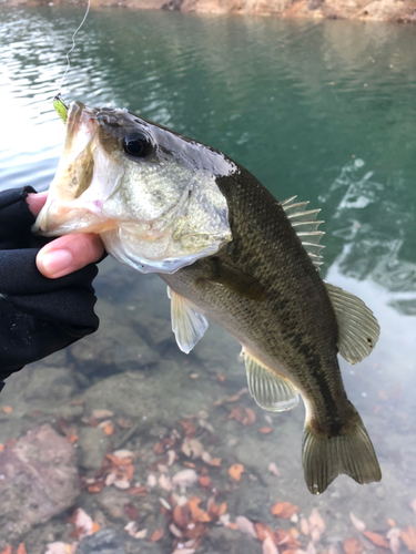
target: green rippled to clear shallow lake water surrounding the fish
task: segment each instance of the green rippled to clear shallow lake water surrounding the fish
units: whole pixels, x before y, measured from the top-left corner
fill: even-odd
[[[41,191],[53,176],[64,129],[51,98],[81,18],[78,10],[57,8],[0,10],[1,188],[31,184]],[[174,550],[174,535],[159,513],[158,499],[170,497],[158,466],[166,460],[158,447],[154,451],[173,429],[180,438],[168,478],[184,462],[194,464],[200,476],[206,468],[211,486],[195,484],[185,495],[199,495],[205,509],[215,489],[231,522],[245,515],[273,530],[295,527],[301,547],[312,554],[313,547],[341,553],[348,537],[357,537],[368,552],[377,550],[354,527],[349,512],[383,536],[392,526],[414,525],[415,29],[106,10],[90,14],[72,64],[67,100],[126,106],[223,151],[277,198],[297,194],[322,208],[324,278],[365,300],[382,326],[372,356],[354,368],[341,360],[341,367],[377,451],[383,481],[359,486],[339,476],[324,495],[310,495],[301,466],[303,408],[267,414],[246,393],[215,406],[245,387],[239,345],[212,326],[189,357],[182,355],[172,340],[162,281],[109,259],[95,281],[101,329],[9,379],[0,406],[12,412],[0,409],[0,442],[45,422],[61,434],[70,428],[79,437],[74,448],[82,479],[93,479],[105,448],[134,451],[132,484],[144,485],[149,474],[158,479],[146,496],[108,485],[95,493],[83,489],[75,503],[102,529],[122,536],[131,520],[139,530],[148,529],[148,538],[164,530],[154,545],[131,540],[132,552],[139,545],[140,552]],[[253,410],[255,421],[233,419],[235,406]],[[94,440],[82,438],[82,430],[97,423],[93,409],[113,412],[113,434],[95,437],[91,461],[85,452]],[[179,423],[186,417],[194,417],[193,438],[204,451],[222,459],[220,468],[206,455],[205,461],[195,452],[186,458],[185,428]],[[264,428],[272,431],[261,432]],[[130,438],[123,434],[131,429]],[[268,471],[272,462],[280,476]],[[227,474],[233,463],[244,465],[240,482]],[[315,546],[296,517],[271,515],[277,501],[296,504],[305,517],[313,507],[319,511],[326,531]],[[1,536],[0,548],[24,541],[28,554],[43,554],[47,543],[75,541],[68,523],[72,512],[69,507],[26,535]],[[197,552],[262,552],[248,535],[210,525]],[[402,552],[407,552],[405,542]]]

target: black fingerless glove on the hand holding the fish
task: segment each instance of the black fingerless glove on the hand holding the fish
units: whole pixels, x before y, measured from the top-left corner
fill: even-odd
[[[35,257],[51,239],[31,234],[34,217],[27,186],[0,193],[0,390],[26,363],[61,350],[97,331],[95,264],[48,279]]]

